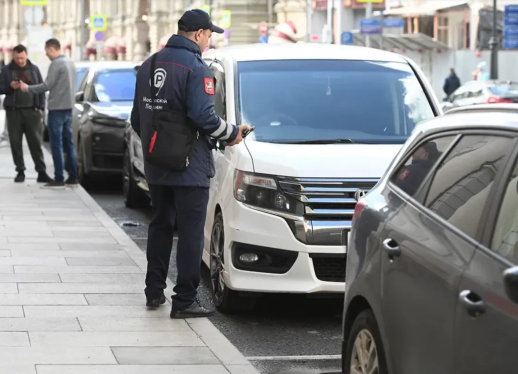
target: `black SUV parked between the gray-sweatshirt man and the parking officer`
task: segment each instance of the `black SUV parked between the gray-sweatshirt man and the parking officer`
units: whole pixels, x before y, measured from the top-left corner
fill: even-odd
[[[79,85],[73,130],[84,186],[122,172],[124,127],[133,107],[136,66],[132,62],[92,65]]]

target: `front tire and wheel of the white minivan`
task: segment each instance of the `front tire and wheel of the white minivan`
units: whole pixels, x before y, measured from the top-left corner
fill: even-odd
[[[225,230],[223,225],[223,213],[216,214],[210,235],[209,249],[209,287],[214,301],[214,306],[222,313],[238,313],[253,309],[256,297],[241,296],[237,291],[229,289],[225,285],[223,273]]]

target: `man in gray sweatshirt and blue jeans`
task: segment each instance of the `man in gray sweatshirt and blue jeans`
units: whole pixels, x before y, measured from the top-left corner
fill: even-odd
[[[47,40],[45,51],[47,57],[52,61],[45,82],[33,85],[20,83],[20,89],[23,92],[44,93],[49,91],[47,122],[54,161],[54,180],[43,187],[64,188],[65,184],[77,186],[77,154],[72,139],[72,108],[76,101],[76,64],[74,60],[61,53],[61,44],[57,39]],[[66,181],[63,176],[63,150],[68,162],[68,179]]]

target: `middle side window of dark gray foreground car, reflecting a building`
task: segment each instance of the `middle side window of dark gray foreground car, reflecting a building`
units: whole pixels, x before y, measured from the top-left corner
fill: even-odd
[[[462,137],[437,168],[425,206],[475,238],[488,193],[512,143],[500,136]]]

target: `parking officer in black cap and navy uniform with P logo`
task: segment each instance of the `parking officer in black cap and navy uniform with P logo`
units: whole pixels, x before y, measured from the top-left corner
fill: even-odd
[[[146,305],[158,308],[166,301],[164,289],[176,220],[178,277],[173,290],[175,295],[171,297],[170,317],[208,317],[215,309],[202,306],[196,290],[201,278],[209,184],[215,173],[211,151],[214,143],[210,138],[233,146],[242,140],[241,131],[249,126],[229,124],[214,112],[214,79],[202,59],[202,51],[208,46],[212,32],[222,34],[223,29],[214,26],[205,11],[196,9],[183,14],[178,30],[178,35],[172,35],[165,48],[150,56],[138,70],[131,113],[133,130],[142,138],[153,209],[146,250]],[[170,132],[180,127],[189,129],[186,132],[196,132],[192,143],[181,144],[181,134],[168,138],[168,131],[153,131],[157,117],[172,119],[160,121]],[[161,161],[165,164],[174,158],[171,150],[177,152],[191,144],[193,149],[187,159],[179,158],[184,163],[183,171],[157,166],[158,161],[153,158],[156,156],[150,155],[163,154]]]

